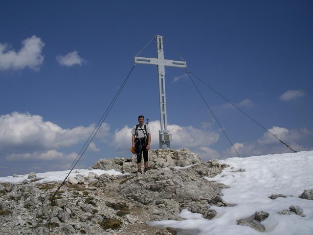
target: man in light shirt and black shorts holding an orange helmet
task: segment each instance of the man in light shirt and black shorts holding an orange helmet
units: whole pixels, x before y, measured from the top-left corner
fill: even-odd
[[[144,124],[145,118],[140,115],[138,117],[138,125],[135,125],[132,130],[132,144],[133,148],[136,151],[137,155],[137,166],[138,166],[138,173],[142,174],[141,171],[141,158],[143,155],[144,160],[144,172],[148,170],[148,151],[150,149],[150,142],[151,142],[151,134],[150,134],[150,127]]]

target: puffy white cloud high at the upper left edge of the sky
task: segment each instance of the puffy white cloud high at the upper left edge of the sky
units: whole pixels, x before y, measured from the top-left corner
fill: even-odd
[[[9,49],[8,44],[0,43],[0,70],[21,70],[29,67],[32,70],[39,70],[44,61],[42,55],[45,43],[41,38],[33,35],[22,41],[22,48],[15,52]]]

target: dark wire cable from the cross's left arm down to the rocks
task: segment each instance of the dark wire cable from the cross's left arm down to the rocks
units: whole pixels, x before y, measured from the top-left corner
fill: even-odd
[[[60,188],[65,184],[67,177],[70,175],[70,173],[72,172],[72,170],[74,169],[74,167],[76,166],[76,164],[79,162],[79,160],[82,158],[82,156],[84,155],[85,151],[87,150],[89,144],[91,143],[91,141],[93,140],[93,138],[96,136],[97,132],[99,131],[102,123],[104,122],[104,120],[107,118],[107,116],[109,115],[115,101],[117,100],[119,94],[121,93],[121,91],[123,90],[129,76],[131,75],[132,71],[134,70],[134,67],[136,66],[136,64],[134,64],[133,68],[131,69],[131,71],[128,73],[127,77],[125,78],[125,80],[123,81],[122,85],[120,86],[120,88],[118,89],[117,93],[115,94],[115,96],[113,97],[111,103],[109,104],[108,108],[106,109],[106,111],[104,112],[104,114],[102,115],[102,117],[100,118],[98,124],[95,126],[94,130],[92,131],[92,133],[90,134],[88,140],[86,141],[86,143],[84,144],[84,146],[82,147],[82,149],[80,150],[80,152],[77,154],[77,157],[75,158],[75,160],[73,161],[73,163],[71,164],[71,169],[68,172],[67,176],[65,177],[64,181],[61,183],[61,185],[56,189],[56,191],[54,192],[54,194],[51,197],[51,210],[49,213],[49,217],[48,217],[48,234],[50,235],[50,220],[51,220],[51,215],[53,212],[53,201],[54,198],[56,196],[56,194],[58,193],[58,191],[60,190]]]

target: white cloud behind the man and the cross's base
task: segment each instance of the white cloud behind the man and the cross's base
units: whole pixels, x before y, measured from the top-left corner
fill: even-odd
[[[159,147],[158,130],[159,121],[149,123],[151,130],[151,148]],[[117,150],[126,149],[125,146],[131,146],[131,130],[133,127],[124,126],[120,130],[115,130],[113,144]],[[195,128],[193,126],[168,125],[168,130],[172,134],[171,148],[194,148],[215,143],[219,139],[219,134],[214,131],[207,131]]]

